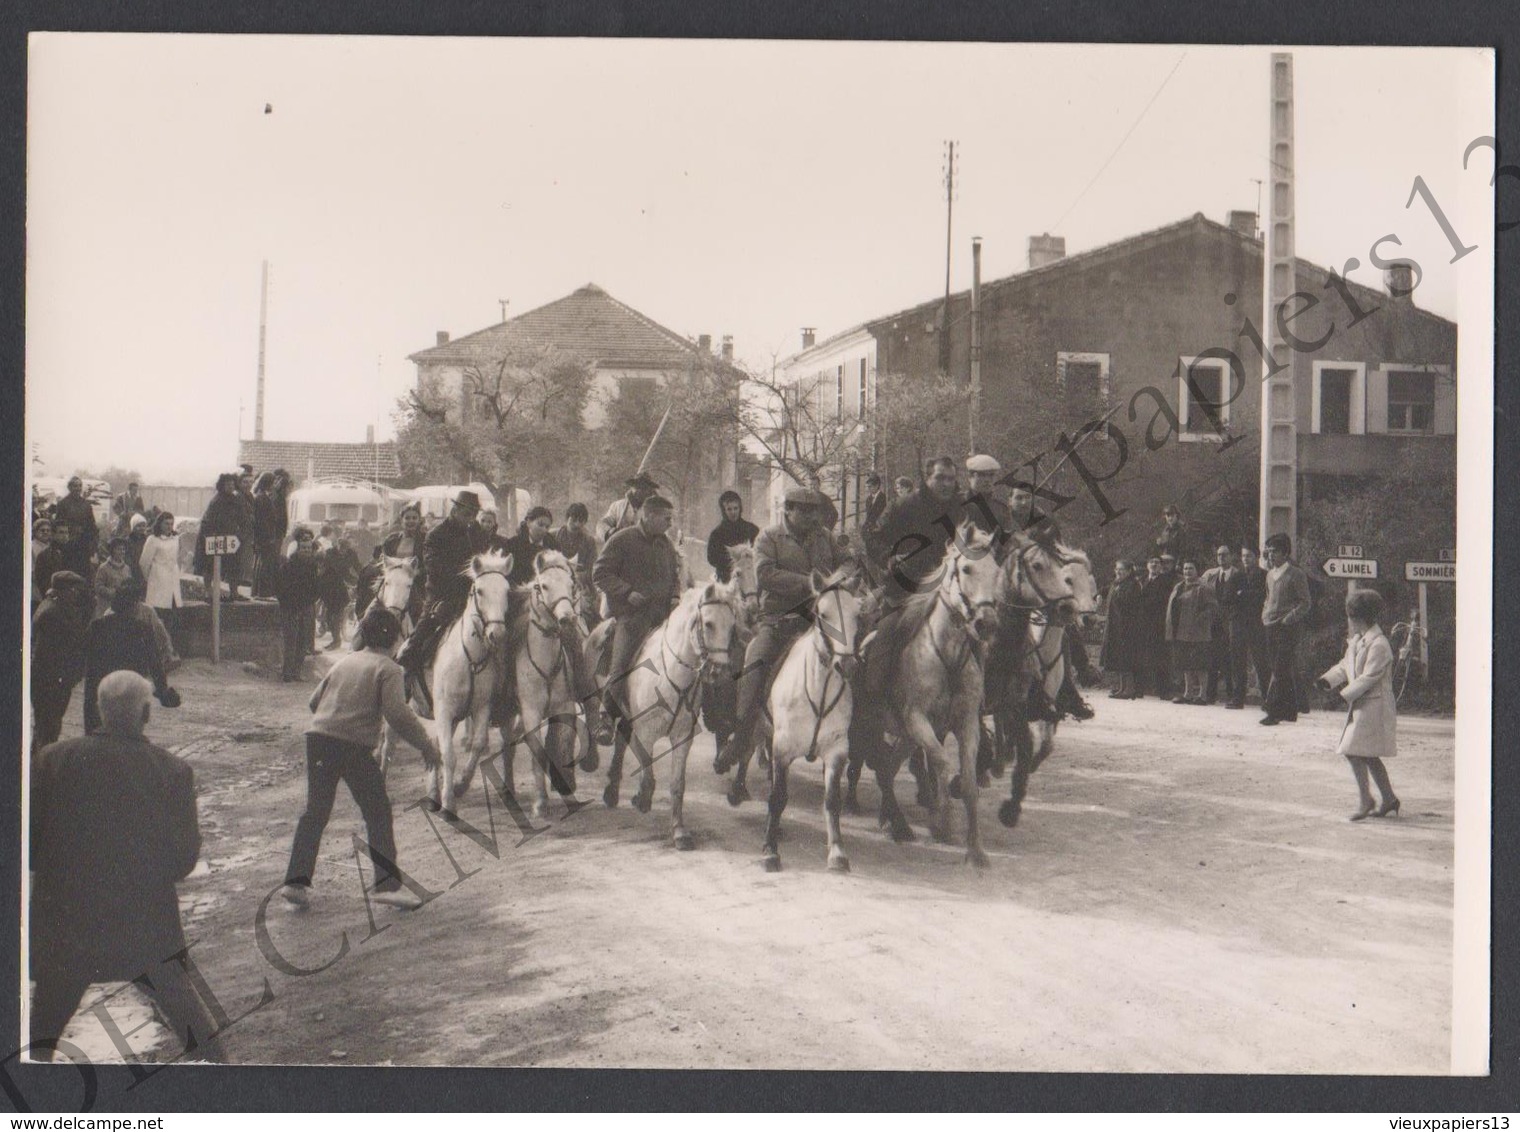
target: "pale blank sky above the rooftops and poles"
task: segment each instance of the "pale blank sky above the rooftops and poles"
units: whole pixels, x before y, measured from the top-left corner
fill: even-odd
[[[210,483],[254,430],[263,260],[266,439],[388,438],[436,331],[587,283],[769,369],[801,327],[942,293],[945,140],[956,289],[973,236],[994,280],[1032,234],[1256,210],[1271,50],[38,33],[27,439],[49,474]],[[1491,56],[1294,56],[1300,255],[1380,286],[1395,232],[1455,318],[1452,245],[1406,202],[1487,179]]]

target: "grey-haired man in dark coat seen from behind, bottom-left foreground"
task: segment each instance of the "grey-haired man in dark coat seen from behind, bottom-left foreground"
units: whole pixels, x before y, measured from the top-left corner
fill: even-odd
[[[201,855],[195,773],[143,737],[150,687],[100,682],[102,728],[43,751],[32,772],[32,1056],[52,1061],[91,983],[132,980],[188,1061],[225,1061],[181,960],[175,881]]]

